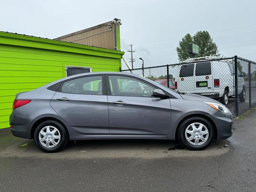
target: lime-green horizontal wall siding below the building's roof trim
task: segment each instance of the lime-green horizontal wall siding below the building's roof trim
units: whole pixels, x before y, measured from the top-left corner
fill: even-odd
[[[104,56],[111,53],[102,52],[102,56],[96,56],[68,52],[68,49],[64,52],[29,46],[0,45],[0,128],[9,126],[15,95],[62,78],[65,74],[63,62],[70,66],[91,67],[93,72],[119,71],[120,58]]]

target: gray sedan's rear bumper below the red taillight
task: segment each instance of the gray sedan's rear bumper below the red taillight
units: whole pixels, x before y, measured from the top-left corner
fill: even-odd
[[[10,115],[10,125],[12,125],[11,132],[16,137],[32,139],[31,128],[29,127],[32,119],[19,118],[14,112]]]

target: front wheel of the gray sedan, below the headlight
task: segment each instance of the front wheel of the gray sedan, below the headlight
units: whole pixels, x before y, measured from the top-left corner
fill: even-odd
[[[192,124],[194,124],[196,128],[193,128]],[[197,132],[198,130],[200,130],[200,125],[202,125],[202,131]],[[206,134],[206,130],[208,131],[208,134]],[[212,124],[207,119],[198,116],[190,117],[183,120],[177,131],[178,140],[180,141],[182,146],[190,150],[203,150],[207,148],[212,141],[214,135],[214,129]],[[191,134],[189,134],[188,131],[190,131]],[[205,141],[201,140],[202,136],[204,137]],[[188,139],[193,140],[188,141]],[[198,140],[197,145],[196,140]]]

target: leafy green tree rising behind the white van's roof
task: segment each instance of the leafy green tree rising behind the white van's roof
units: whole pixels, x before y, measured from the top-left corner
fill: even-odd
[[[192,58],[192,55],[188,53],[189,43],[197,44],[199,47],[199,54],[195,57],[220,56],[218,47],[213,42],[210,34],[207,31],[198,31],[193,37],[190,34],[186,34],[179,42],[179,47],[176,48],[176,51],[180,61]]]

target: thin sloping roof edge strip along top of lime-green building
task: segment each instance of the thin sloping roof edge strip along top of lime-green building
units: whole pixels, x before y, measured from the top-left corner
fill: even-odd
[[[1,33],[26,36],[26,37],[30,37],[30,38],[44,39],[44,40],[54,41],[54,42],[58,42],[58,43],[69,44],[69,46],[71,46],[71,45],[79,46],[80,48],[88,48],[88,49],[96,48],[97,50],[100,49],[99,51],[112,52],[112,53],[115,52],[117,54],[124,54],[123,51],[101,48],[101,47],[96,47],[96,46],[82,45],[82,44],[78,44],[78,43],[66,42],[66,41],[61,41],[61,40],[54,40],[54,39],[48,39],[48,38],[42,38],[42,37],[36,37],[36,36],[30,36],[30,35],[18,34],[18,33],[12,33],[12,32],[5,32],[5,31],[0,31],[0,36],[1,36]]]

